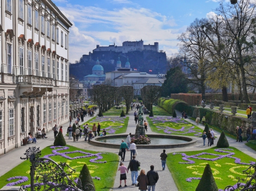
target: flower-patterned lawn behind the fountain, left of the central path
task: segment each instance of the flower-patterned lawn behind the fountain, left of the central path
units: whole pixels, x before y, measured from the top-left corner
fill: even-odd
[[[93,117],[85,122],[83,125],[88,124],[89,129],[92,129],[93,124],[98,126],[101,124],[101,132],[103,129],[107,131],[107,134],[120,134],[125,133],[128,126],[129,117],[118,117],[118,116],[103,116]]]

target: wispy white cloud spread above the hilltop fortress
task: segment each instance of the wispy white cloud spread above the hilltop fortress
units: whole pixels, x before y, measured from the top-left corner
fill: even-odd
[[[122,45],[124,41],[144,40],[144,44],[159,42],[159,46],[170,56],[177,50],[177,37],[185,27],[175,28],[173,17],[145,8],[122,8],[109,11],[93,6],[69,4],[60,7],[64,15],[74,24],[69,35],[69,60],[75,62],[108,41]],[[91,29],[95,26],[95,29]],[[105,45],[109,45],[105,44]]]

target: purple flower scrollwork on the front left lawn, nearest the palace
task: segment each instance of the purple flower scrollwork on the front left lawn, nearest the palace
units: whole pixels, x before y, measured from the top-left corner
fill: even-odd
[[[49,157],[53,157],[53,156],[60,156],[60,157],[65,157],[67,159],[70,159],[70,160],[74,160],[74,159],[77,159],[77,158],[87,158],[87,157],[96,157],[96,158],[92,158],[89,160],[89,162],[91,163],[107,163],[107,161],[97,161],[97,160],[101,160],[103,157],[101,156],[101,154],[106,154],[106,153],[96,153],[96,154],[92,154],[92,153],[89,153],[89,152],[83,152],[83,151],[72,151],[72,152],[58,152],[58,151],[62,151],[62,150],[67,150],[69,149],[69,147],[67,146],[51,146],[50,147],[51,149],[55,149],[55,148],[60,148],[60,149],[56,149],[56,150],[53,150],[53,154],[48,154],[48,155],[45,155],[44,157],[45,158],[49,158]],[[78,156],[78,157],[69,157],[67,156],[66,154],[71,154],[71,153],[82,153],[84,154],[83,156]]]

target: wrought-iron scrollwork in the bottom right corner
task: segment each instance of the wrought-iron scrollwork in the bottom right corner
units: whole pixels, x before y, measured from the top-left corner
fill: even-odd
[[[236,185],[228,185],[224,191],[256,191],[256,163],[243,170],[243,174],[246,174],[246,178],[239,178]]]

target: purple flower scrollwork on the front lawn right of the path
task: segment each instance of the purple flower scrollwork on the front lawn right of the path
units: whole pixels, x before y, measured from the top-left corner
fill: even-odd
[[[229,152],[229,151],[233,151],[233,149],[222,149],[221,148],[221,149],[214,149],[214,151],[215,152],[227,153],[227,154],[226,155],[218,155],[218,154],[213,154],[213,153],[208,153],[208,152],[201,152],[201,153],[196,154],[196,155],[188,156],[185,153],[176,153],[176,152],[174,152],[173,155],[180,154],[182,156],[182,159],[187,161],[187,162],[179,162],[181,164],[193,164],[193,163],[195,163],[195,161],[190,160],[189,158],[201,159],[201,160],[206,160],[206,161],[216,161],[216,160],[219,160],[219,159],[222,159],[222,158],[225,158],[225,157],[235,159],[235,163],[237,163],[237,164],[245,164],[245,165],[255,164],[255,162],[253,162],[253,161],[249,161],[250,163],[241,163],[240,158],[232,157],[232,155],[234,155],[235,153],[234,152]],[[199,157],[199,156],[202,156],[202,155],[216,156],[216,158]]]

